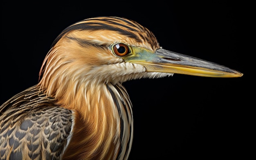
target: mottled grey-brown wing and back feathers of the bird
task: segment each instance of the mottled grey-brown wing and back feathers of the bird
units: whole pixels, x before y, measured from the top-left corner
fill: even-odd
[[[67,145],[72,111],[34,86],[0,107],[1,160],[59,160]]]

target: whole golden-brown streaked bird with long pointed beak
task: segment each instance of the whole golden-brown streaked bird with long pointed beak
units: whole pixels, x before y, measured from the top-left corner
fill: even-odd
[[[38,83],[0,106],[1,160],[127,160],[132,103],[125,81],[243,73],[165,50],[146,27],[122,17],[76,22],[54,40]]]

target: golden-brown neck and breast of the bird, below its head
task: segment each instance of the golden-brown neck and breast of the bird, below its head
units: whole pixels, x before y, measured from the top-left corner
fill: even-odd
[[[76,85],[58,85],[58,89],[48,94],[58,100],[58,105],[75,114],[76,133],[66,149],[65,155],[70,155],[67,158],[127,159],[132,144],[133,118],[125,88],[120,83],[97,81],[65,84]]]

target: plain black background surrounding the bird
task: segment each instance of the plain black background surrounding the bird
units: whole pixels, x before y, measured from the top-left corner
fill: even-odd
[[[243,4],[149,3],[3,1],[0,103],[38,82],[45,55],[67,26],[96,16],[125,17],[152,31],[164,49],[245,74],[240,78],[175,74],[125,82],[135,128],[129,160],[245,158],[252,151],[249,135],[255,125],[248,125],[252,121],[248,113],[255,105],[247,101],[245,59],[249,58],[240,38]]]

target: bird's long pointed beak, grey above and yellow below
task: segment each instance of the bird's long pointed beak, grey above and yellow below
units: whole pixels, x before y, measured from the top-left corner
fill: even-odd
[[[141,50],[140,50],[141,51]],[[167,72],[202,77],[242,77],[243,74],[219,64],[157,49],[155,53],[143,50],[133,58],[131,63],[141,64],[147,72]]]

